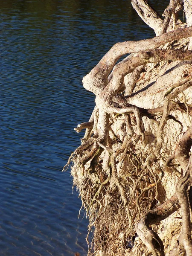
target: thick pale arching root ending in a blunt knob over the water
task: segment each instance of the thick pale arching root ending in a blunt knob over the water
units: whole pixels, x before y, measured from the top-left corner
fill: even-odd
[[[167,42],[177,40],[179,38],[188,38],[192,36],[192,27],[177,29],[167,32],[163,35],[142,41],[125,41],[115,44],[108,53],[99,61],[91,72],[83,78],[83,86],[85,89],[93,92],[96,96],[105,89],[108,84],[108,76],[113,69],[116,61],[128,53],[150,51],[160,47]]]

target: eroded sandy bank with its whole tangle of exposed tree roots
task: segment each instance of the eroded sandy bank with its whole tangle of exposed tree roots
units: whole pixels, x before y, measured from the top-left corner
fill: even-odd
[[[96,106],[64,169],[73,162],[88,255],[192,256],[192,1],[170,0],[163,17],[132,6],[157,36],[115,44],[83,78]]]

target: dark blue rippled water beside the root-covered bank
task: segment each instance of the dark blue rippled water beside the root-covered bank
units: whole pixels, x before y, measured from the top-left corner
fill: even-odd
[[[0,18],[0,255],[86,255],[61,172],[94,108],[81,79],[116,42],[154,33],[127,0],[1,0]]]

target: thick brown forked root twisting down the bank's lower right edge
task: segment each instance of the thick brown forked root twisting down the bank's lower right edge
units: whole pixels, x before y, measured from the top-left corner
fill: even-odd
[[[175,158],[179,161],[180,166],[185,170],[184,176],[180,178],[176,186],[176,192],[168,201],[147,212],[140,221],[136,224],[136,231],[143,243],[149,247],[149,251],[154,256],[163,256],[163,243],[154,231],[149,228],[149,225],[157,224],[161,220],[167,218],[173,212],[181,207],[182,210],[182,239],[180,242],[186,250],[186,255],[190,256],[192,253],[191,243],[191,224],[190,224],[190,210],[187,190],[192,183],[192,157],[189,162],[189,151],[192,147],[192,123],[189,129],[181,138],[175,151]],[[189,235],[190,234],[190,235]],[[158,241],[158,242],[157,242]]]

